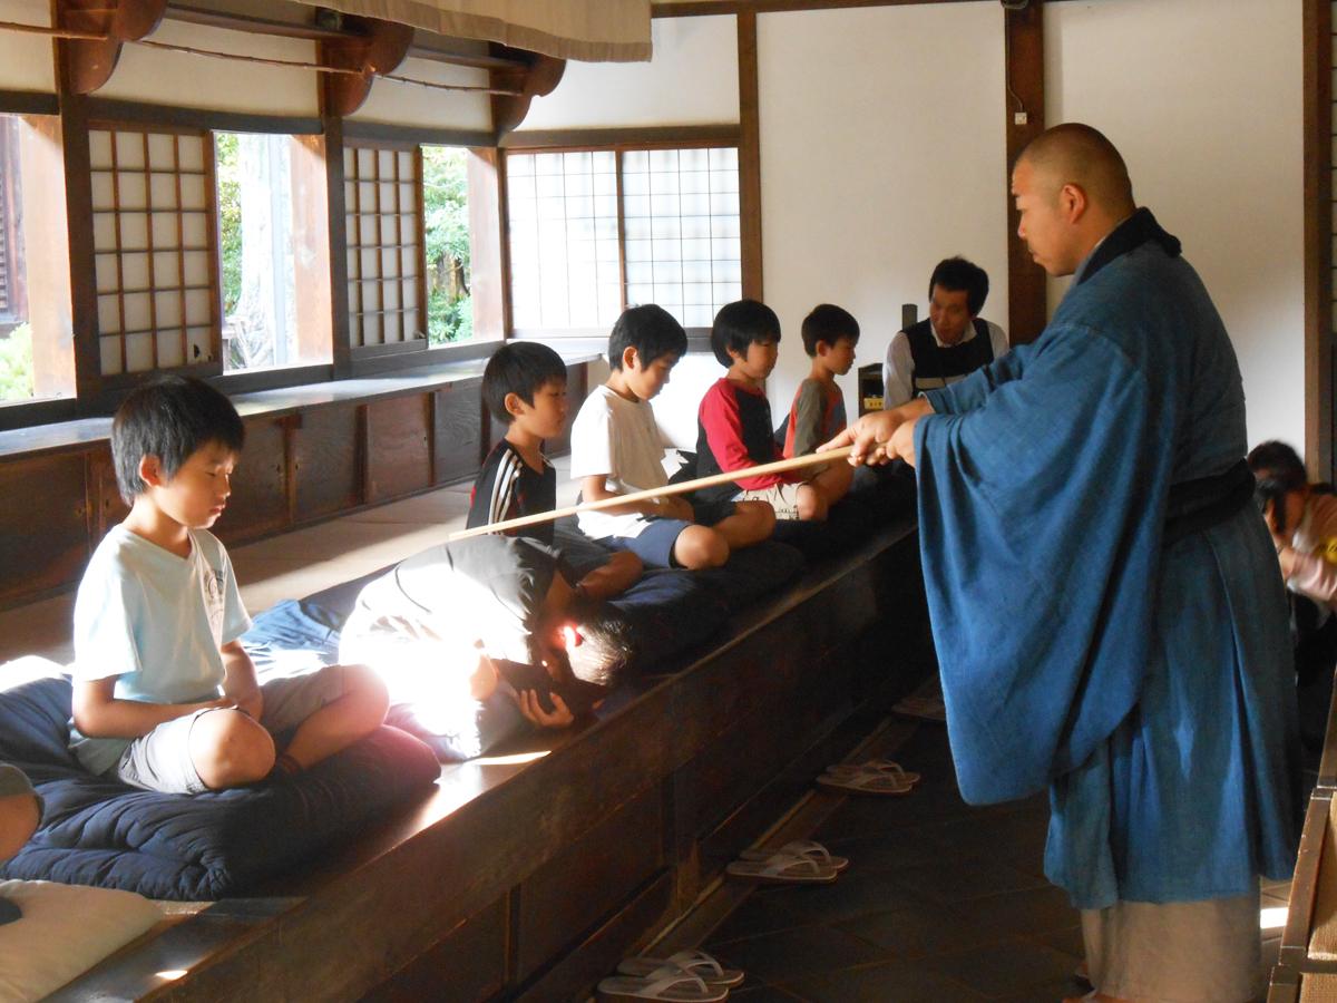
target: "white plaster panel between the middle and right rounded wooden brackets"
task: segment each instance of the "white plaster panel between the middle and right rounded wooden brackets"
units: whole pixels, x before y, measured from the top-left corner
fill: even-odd
[[[410,80],[429,80],[443,84],[487,87],[485,70],[435,63],[427,59],[405,59],[394,76]],[[396,80],[377,80],[366,102],[353,115],[356,122],[389,122],[397,126],[424,126],[427,128],[492,130],[492,110],[485,94],[443,91]]]

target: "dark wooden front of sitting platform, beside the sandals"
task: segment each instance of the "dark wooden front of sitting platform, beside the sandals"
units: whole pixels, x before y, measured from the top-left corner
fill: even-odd
[[[555,745],[448,766],[310,871],[53,999],[582,996],[683,915],[933,663],[906,518]]]

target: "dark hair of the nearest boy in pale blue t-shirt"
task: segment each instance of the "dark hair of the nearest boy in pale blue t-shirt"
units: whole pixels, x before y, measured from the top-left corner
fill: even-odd
[[[156,456],[168,480],[209,443],[242,451],[246,427],[233,403],[203,380],[163,376],[131,391],[111,421],[111,459],[116,487],[127,506],[148,489],[139,461]]]

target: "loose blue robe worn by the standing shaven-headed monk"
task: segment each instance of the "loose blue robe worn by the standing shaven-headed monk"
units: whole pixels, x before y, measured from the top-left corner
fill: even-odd
[[[1290,875],[1302,810],[1284,586],[1253,504],[1162,540],[1170,485],[1245,455],[1239,366],[1174,238],[1078,280],[915,432],[957,780],[1048,786],[1078,908],[1243,895]]]

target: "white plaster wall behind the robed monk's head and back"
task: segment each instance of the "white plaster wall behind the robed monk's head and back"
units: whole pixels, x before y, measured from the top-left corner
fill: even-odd
[[[1301,4],[1066,0],[1044,20],[1047,122],[1119,147],[1225,318],[1250,444],[1304,455]]]

